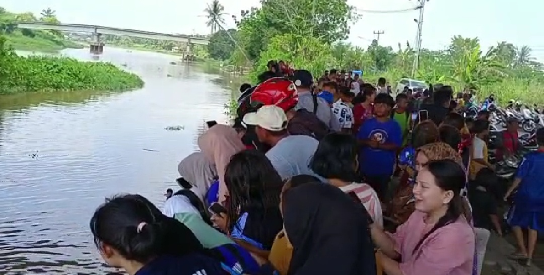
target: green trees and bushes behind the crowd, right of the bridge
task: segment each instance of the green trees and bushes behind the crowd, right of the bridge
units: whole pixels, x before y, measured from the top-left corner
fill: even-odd
[[[528,46],[500,42],[481,49],[478,38],[452,37],[447,49],[422,49],[417,57],[409,43],[398,48],[366,48],[342,42],[358,19],[346,0],[261,0],[261,8],[242,10],[232,16],[236,29],[225,30],[224,12],[218,0],[205,10],[211,35],[211,58],[236,66],[252,66],[253,76],[265,70],[268,60],[285,60],[295,68],[306,68],[319,77],[324,70],[362,69],[363,79],[377,82],[385,77],[395,87],[400,78],[452,85],[457,91],[472,90],[479,98],[494,93],[499,102],[515,98],[544,104],[544,67],[531,58]],[[236,41],[236,43],[233,42]]]

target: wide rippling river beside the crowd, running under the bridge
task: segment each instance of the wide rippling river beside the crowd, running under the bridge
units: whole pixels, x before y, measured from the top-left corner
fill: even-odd
[[[91,60],[88,49],[64,55]],[[171,55],[105,48],[145,87],[0,96],[0,273],[108,274],[89,220],[105,197],[139,193],[162,208],[205,121],[227,120],[236,89]],[[166,127],[182,126],[182,130]],[[110,273],[113,274],[113,273]]]

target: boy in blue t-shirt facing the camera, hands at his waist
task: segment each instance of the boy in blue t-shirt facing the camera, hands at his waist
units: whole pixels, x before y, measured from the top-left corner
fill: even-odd
[[[403,141],[399,123],[391,118],[394,105],[390,95],[377,95],[374,99],[375,117],[364,121],[357,133],[362,147],[358,158],[359,171],[382,202],[393,175],[396,152]]]

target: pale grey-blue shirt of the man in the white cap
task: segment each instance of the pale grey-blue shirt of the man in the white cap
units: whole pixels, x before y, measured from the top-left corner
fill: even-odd
[[[317,176],[309,166],[318,143],[316,139],[307,135],[290,135],[283,137],[266,153],[266,156],[281,179],[299,174]]]

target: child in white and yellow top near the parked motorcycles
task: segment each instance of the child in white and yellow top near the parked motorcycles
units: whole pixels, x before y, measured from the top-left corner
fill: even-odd
[[[493,168],[489,163],[489,153],[487,144],[484,141],[489,135],[489,121],[477,120],[474,121],[471,134],[474,135],[472,140],[472,158],[468,172],[471,179],[474,179],[478,171],[483,167]]]

